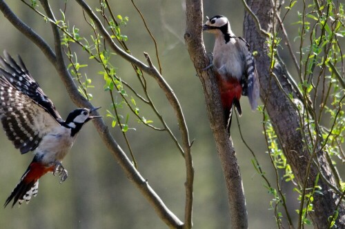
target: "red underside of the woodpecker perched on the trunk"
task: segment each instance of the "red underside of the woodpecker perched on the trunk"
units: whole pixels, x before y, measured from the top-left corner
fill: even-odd
[[[233,106],[233,100],[236,98],[238,101],[241,98],[242,86],[236,78],[227,77],[225,80],[219,74],[216,74],[218,86],[221,96],[221,104],[224,108],[230,109]]]

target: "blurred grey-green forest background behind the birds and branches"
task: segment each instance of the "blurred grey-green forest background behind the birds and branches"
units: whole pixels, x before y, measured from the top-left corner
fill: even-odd
[[[135,57],[144,61],[143,52],[148,52],[156,64],[155,46],[130,1],[109,2],[115,14],[129,17],[129,22],[126,27],[121,28],[121,33],[128,36],[127,44]],[[7,3],[14,13],[53,47],[52,32],[48,23],[19,1]],[[63,8],[64,1],[51,1],[50,4],[53,8]],[[158,43],[163,77],[181,103],[190,139],[195,139],[192,148],[195,168],[194,228],[228,228],[230,217],[224,177],[208,125],[201,84],[195,76],[193,63],[184,45],[184,1],[146,0],[137,1],[137,6],[144,14]],[[43,12],[42,8],[39,10]],[[230,20],[235,34],[243,34],[244,8],[241,1],[223,0],[217,1],[217,4],[215,1],[204,1],[204,15],[212,17],[215,14],[224,14]],[[55,12],[55,17],[59,18],[61,14]],[[86,36],[90,31],[83,20],[81,9],[74,1],[68,1],[66,18],[69,19],[71,27],[76,25],[80,29],[81,35]],[[293,24],[295,21],[297,12],[290,12],[285,23],[290,39],[297,34],[297,25]],[[214,37],[205,34],[204,41],[206,50],[211,52]],[[0,14],[0,50],[2,52],[5,49],[12,56],[21,55],[26,67],[55,103],[62,117],[66,118],[68,112],[75,109],[55,68],[39,48],[23,37],[3,14]],[[80,49],[78,52],[79,63],[88,64],[82,71],[86,72],[95,86],[89,89],[93,95],[91,102],[94,106],[102,106],[99,112],[111,126],[110,119],[106,117],[106,110],[110,110],[111,101],[108,93],[103,90],[103,77],[97,73],[101,68],[95,61],[88,59]],[[284,59],[287,50],[282,47],[279,52]],[[112,57],[111,61],[112,65],[118,68],[119,77],[129,82],[135,78],[132,66],[126,61],[117,56]],[[286,64],[290,66],[288,59]],[[164,93],[154,80],[149,77],[147,80],[157,109],[172,131],[179,136],[174,112]],[[239,123],[244,139],[254,149],[266,176],[274,179],[273,167],[266,153],[266,143],[262,134],[262,115],[250,111],[246,98],[242,99],[242,107],[244,112]],[[120,112],[126,115],[126,110]],[[144,108],[141,112],[145,114]],[[156,120],[150,112],[145,114],[145,117]],[[139,172],[148,179],[168,208],[183,219],[186,172],[184,159],[175,143],[166,132],[155,132],[139,125],[135,117],[130,117],[129,126],[136,129],[129,130],[128,137],[138,162]],[[120,146],[128,152],[119,128],[113,129],[112,132]],[[273,210],[270,210],[270,200],[273,196],[268,194],[262,178],[253,168],[252,155],[239,136],[235,118],[231,133],[242,172],[249,227],[275,228]],[[0,203],[4,203],[32,160],[32,155],[20,155],[19,150],[14,149],[3,131],[0,132],[0,146]],[[92,123],[83,128],[63,165],[68,170],[69,177],[61,185],[57,177],[46,175],[40,180],[39,194],[28,206],[23,204],[20,208],[0,208],[0,228],[166,228],[166,224],[157,217],[146,199],[124,176],[117,161],[103,146]],[[342,169],[341,174],[344,172],[344,168]],[[290,199],[295,200],[297,195],[289,186],[290,184],[286,183],[283,188],[288,195],[295,195]],[[297,206],[290,205],[290,208],[296,209]],[[297,214],[295,216],[297,217]]]

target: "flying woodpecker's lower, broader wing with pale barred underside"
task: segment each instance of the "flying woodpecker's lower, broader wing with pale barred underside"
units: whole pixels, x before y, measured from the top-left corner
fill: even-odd
[[[24,154],[60,124],[36,101],[0,76],[0,119],[8,139]]]

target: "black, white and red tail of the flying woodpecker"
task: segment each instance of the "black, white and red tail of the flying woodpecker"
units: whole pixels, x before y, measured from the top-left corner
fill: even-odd
[[[52,167],[46,167],[43,164],[35,161],[30,163],[30,166],[21,177],[19,183],[12,191],[10,197],[6,199],[5,204],[3,205],[4,208],[8,206],[8,203],[13,200],[13,206],[18,202],[19,205],[26,201],[28,203],[32,196],[36,196],[39,188],[39,178],[45,175],[47,172],[51,172],[53,170]]]

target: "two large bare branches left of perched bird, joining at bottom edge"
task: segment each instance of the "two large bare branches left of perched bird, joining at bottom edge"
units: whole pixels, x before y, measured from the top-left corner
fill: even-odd
[[[193,203],[193,163],[191,160],[191,154],[190,154],[190,142],[188,138],[188,129],[186,127],[186,123],[184,120],[184,115],[181,111],[181,107],[179,106],[179,102],[177,98],[175,97],[175,94],[172,92],[172,89],[170,86],[168,86],[168,83],[161,77],[159,72],[150,66],[146,66],[144,63],[141,63],[141,61],[135,59],[135,57],[132,57],[130,54],[127,54],[123,50],[117,47],[117,45],[112,41],[110,35],[108,32],[103,28],[103,25],[98,20],[98,18],[93,14],[92,10],[86,5],[83,1],[78,1],[78,3],[82,6],[83,10],[85,10],[89,17],[96,21],[97,28],[103,34],[103,37],[106,38],[106,41],[110,44],[111,48],[117,52],[121,57],[124,57],[124,59],[130,61],[130,63],[135,64],[138,68],[141,68],[144,72],[150,74],[150,76],[154,77],[157,82],[159,83],[159,86],[164,89],[164,92],[166,92],[166,96],[168,97],[168,100],[172,104],[172,107],[175,109],[177,119],[179,121],[179,127],[181,130],[182,135],[182,142],[183,142],[183,148],[184,148],[184,154],[186,158],[186,170],[187,170],[187,181],[188,186],[186,188],[186,209],[188,209],[188,212],[186,212],[186,219],[191,222],[191,206]],[[50,6],[48,4],[48,1],[41,1],[41,4],[43,8],[46,10],[46,14],[50,18],[54,18],[52,11],[50,9]],[[65,63],[63,62],[63,52],[61,49],[61,39],[60,39],[60,33],[59,28],[52,23],[52,31],[54,34],[55,39],[55,52],[52,51],[48,43],[44,41],[39,34],[34,32],[30,27],[26,26],[23,21],[21,21],[16,15],[8,8],[6,3],[4,1],[0,1],[0,10],[3,12],[5,17],[19,30],[21,31],[26,37],[28,37],[34,44],[36,44],[42,52],[46,55],[47,59],[50,60],[50,62],[55,66],[57,69],[57,72],[59,72],[59,76],[61,77],[66,90],[68,94],[70,95],[70,98],[72,101],[80,107],[86,107],[91,108],[92,104],[87,101],[84,97],[81,96],[81,94],[78,92],[78,88],[75,85],[75,82],[72,79],[72,76],[68,72],[68,69],[65,66]],[[102,119],[99,119],[97,121],[94,121],[95,127],[97,128],[97,131],[99,132],[99,135],[101,139],[103,140],[103,143],[107,146],[107,148],[110,150],[112,155],[115,157],[117,162],[120,164],[120,166],[123,168],[124,172],[126,173],[126,176],[135,183],[137,188],[141,191],[141,193],[148,199],[148,202],[152,205],[152,207],[156,210],[157,215],[166,222],[166,224],[172,228],[181,228],[184,223],[182,223],[164,204],[164,202],[159,198],[159,196],[155,193],[154,190],[149,186],[146,179],[141,177],[139,172],[135,169],[135,167],[132,165],[131,161],[128,159],[124,151],[120,148],[120,146],[117,144],[115,139],[110,134],[108,127],[104,123]],[[191,223],[188,223],[190,225]]]

